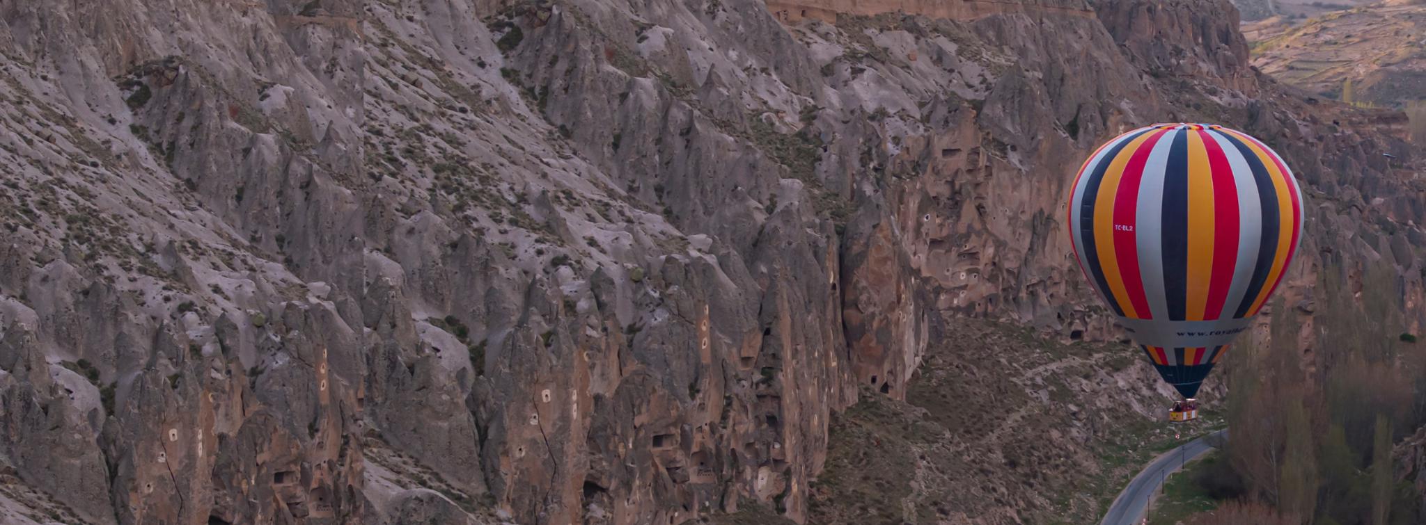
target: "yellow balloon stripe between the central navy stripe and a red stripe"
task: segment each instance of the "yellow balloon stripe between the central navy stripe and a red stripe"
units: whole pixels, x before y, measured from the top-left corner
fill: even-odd
[[[1204,320],[1208,283],[1214,276],[1214,176],[1208,149],[1196,132],[1188,134],[1188,320]],[[1174,300],[1174,297],[1169,297]]]

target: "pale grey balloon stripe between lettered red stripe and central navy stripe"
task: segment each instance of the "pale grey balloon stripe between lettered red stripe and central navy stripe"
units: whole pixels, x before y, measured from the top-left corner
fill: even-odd
[[[1144,164],[1144,179],[1139,181],[1138,206],[1134,211],[1134,242],[1139,250],[1139,280],[1144,282],[1144,296],[1149,302],[1149,313],[1155,320],[1168,320],[1168,293],[1164,290],[1164,176],[1168,172],[1168,154],[1174,139],[1182,129],[1165,132],[1158,138],[1148,162]]]

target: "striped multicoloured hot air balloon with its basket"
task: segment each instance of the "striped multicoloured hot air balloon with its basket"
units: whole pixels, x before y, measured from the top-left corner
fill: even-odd
[[[1199,384],[1292,263],[1292,171],[1241,131],[1155,124],[1089,155],[1067,208],[1079,269],[1184,396],[1171,420],[1192,420]]]

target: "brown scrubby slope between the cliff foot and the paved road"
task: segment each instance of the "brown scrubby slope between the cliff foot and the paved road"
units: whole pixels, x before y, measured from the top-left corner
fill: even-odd
[[[1169,396],[1127,344],[945,323],[906,401],[864,391],[834,420],[809,522],[1097,522],[1151,458],[1222,424],[1159,423]]]

